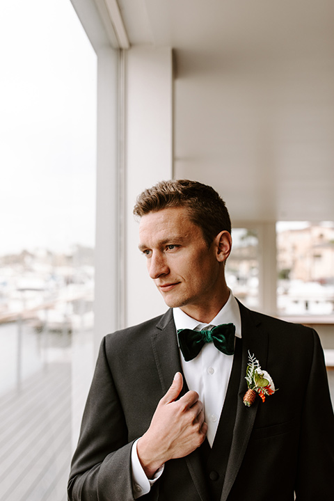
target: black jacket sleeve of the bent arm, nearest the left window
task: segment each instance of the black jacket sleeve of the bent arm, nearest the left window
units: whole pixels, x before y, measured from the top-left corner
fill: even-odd
[[[127,425],[102,341],[67,493],[70,501],[133,501]]]

